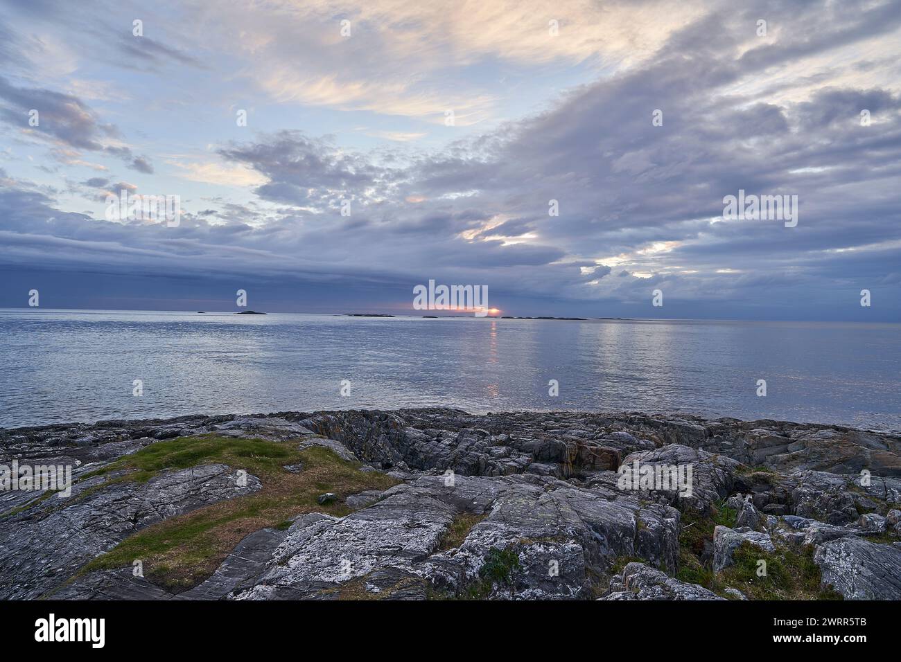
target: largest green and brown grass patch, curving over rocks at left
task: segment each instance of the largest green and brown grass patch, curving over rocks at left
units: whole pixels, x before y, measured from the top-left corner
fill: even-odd
[[[101,568],[131,566],[141,559],[145,576],[169,591],[183,591],[212,575],[241,539],[259,529],[286,529],[290,518],[306,512],[341,516],[350,512],[343,497],[363,490],[387,489],[397,481],[378,472],[363,472],[332,450],[296,449],[296,442],[217,437],[165,440],[117,460],[114,468],[131,473],[115,480],[147,481],[162,469],[221,462],[258,476],[255,494],[212,503],[196,511],[160,521],[91,561],[79,574]],[[300,473],[284,465],[303,463]],[[320,505],[316,497],[333,492],[339,499]]]

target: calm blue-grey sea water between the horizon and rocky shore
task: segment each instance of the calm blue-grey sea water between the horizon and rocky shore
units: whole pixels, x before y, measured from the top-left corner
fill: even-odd
[[[0,310],[0,426],[443,405],[901,430],[901,325]],[[132,395],[135,379],[143,395]],[[341,380],[350,396],[341,396]],[[548,394],[558,380],[560,395]],[[767,396],[756,394],[767,380]]]

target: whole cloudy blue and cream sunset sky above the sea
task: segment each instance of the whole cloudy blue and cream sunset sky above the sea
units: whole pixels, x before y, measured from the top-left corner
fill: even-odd
[[[899,51],[901,0],[0,0],[0,307],[901,322]]]

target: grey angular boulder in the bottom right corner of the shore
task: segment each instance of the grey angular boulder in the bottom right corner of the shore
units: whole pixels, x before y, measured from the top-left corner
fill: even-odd
[[[901,549],[856,536],[831,540],[816,549],[823,585],[845,600],[901,600]]]

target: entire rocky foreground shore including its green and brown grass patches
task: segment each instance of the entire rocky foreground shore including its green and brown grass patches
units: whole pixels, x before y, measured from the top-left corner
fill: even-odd
[[[14,461],[74,482],[0,492],[5,599],[901,599],[898,435],[287,412],[0,430]]]

